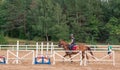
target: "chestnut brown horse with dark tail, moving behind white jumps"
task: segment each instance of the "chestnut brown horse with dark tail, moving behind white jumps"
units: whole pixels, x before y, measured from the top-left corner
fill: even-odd
[[[65,52],[66,54],[63,57],[69,56],[71,58],[71,55],[78,53],[78,52],[70,52],[71,50],[69,49],[69,44],[67,42],[65,42],[64,40],[60,40],[58,46],[63,47],[63,49],[66,51]],[[84,57],[85,57],[85,51],[90,51],[90,54],[93,56],[91,48],[86,46],[85,44],[79,44],[76,47],[75,51],[81,51],[82,52],[82,59],[84,59]],[[87,55],[86,55],[86,58],[88,59]]]

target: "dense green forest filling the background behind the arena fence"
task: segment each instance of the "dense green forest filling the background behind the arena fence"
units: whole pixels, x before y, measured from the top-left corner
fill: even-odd
[[[1,0],[3,36],[120,44],[120,0]]]

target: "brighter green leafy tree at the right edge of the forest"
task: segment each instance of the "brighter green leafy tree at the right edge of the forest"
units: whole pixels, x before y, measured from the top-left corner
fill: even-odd
[[[107,42],[117,44],[119,43],[120,40],[120,25],[119,25],[119,20],[115,17],[112,17],[110,21],[106,24],[106,29],[108,30],[109,33],[109,38]]]

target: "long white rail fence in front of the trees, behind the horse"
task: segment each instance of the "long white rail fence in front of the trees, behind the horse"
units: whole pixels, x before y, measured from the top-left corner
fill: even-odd
[[[0,50],[5,49],[12,49],[14,50],[16,48],[17,45],[0,45]],[[19,45],[20,46],[20,50],[35,50],[36,49],[36,44],[35,45]],[[41,45],[38,45],[41,46]],[[46,48],[47,45],[44,45],[43,49],[47,49]],[[91,47],[92,50],[96,51],[96,50],[107,50],[107,46],[108,45],[87,45],[89,47]],[[113,46],[113,50],[120,50],[120,45],[111,45]],[[5,48],[6,47],[6,48]],[[53,45],[54,50],[62,50],[63,48],[58,47],[58,45]]]

